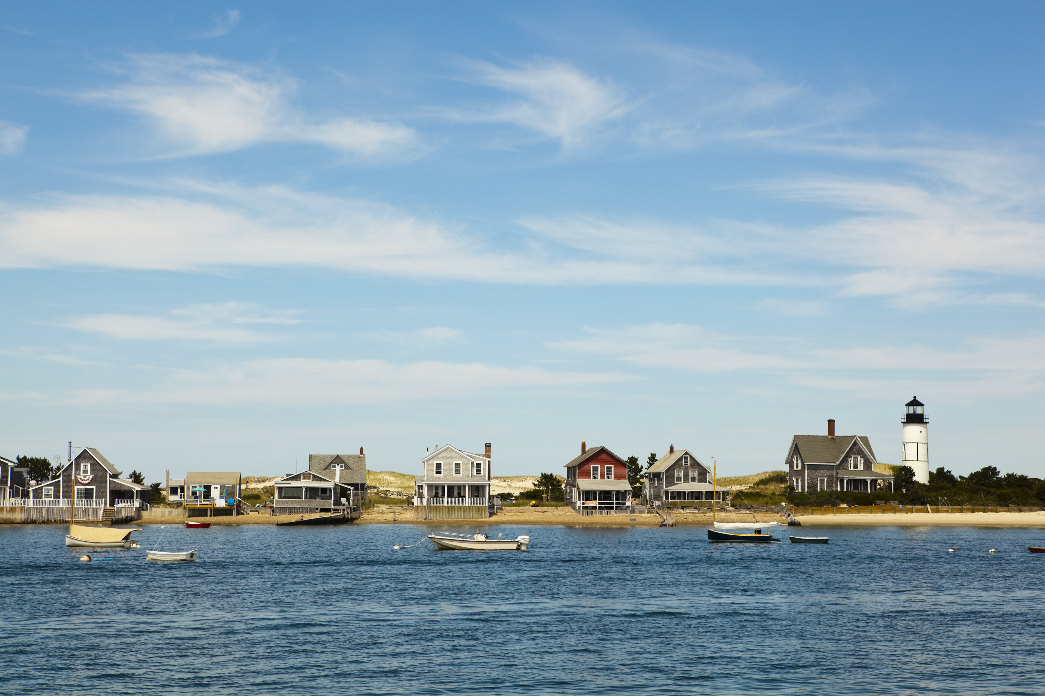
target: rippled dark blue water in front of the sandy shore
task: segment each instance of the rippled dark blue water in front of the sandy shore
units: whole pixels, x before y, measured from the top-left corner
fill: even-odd
[[[0,693],[1045,693],[1045,530],[484,529],[533,543],[149,526],[200,559],[84,563],[62,527],[0,526]]]

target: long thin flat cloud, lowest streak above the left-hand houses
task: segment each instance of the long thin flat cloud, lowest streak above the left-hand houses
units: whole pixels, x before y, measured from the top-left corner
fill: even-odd
[[[631,379],[621,373],[553,373],[483,363],[288,358],[180,370],[153,389],[83,390],[78,399],[96,403],[359,405],[504,389],[577,390]]]

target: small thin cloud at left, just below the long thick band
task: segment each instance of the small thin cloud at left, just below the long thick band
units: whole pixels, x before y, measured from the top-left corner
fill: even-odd
[[[274,337],[243,325],[298,323],[297,312],[269,310],[252,303],[192,305],[165,315],[89,314],[63,322],[69,329],[124,340],[194,340],[256,343]]]

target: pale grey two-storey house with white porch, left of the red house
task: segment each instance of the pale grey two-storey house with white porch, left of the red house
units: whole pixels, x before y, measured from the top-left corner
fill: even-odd
[[[471,520],[490,517],[490,443],[486,454],[450,445],[437,448],[421,460],[423,474],[415,478],[417,520]]]

